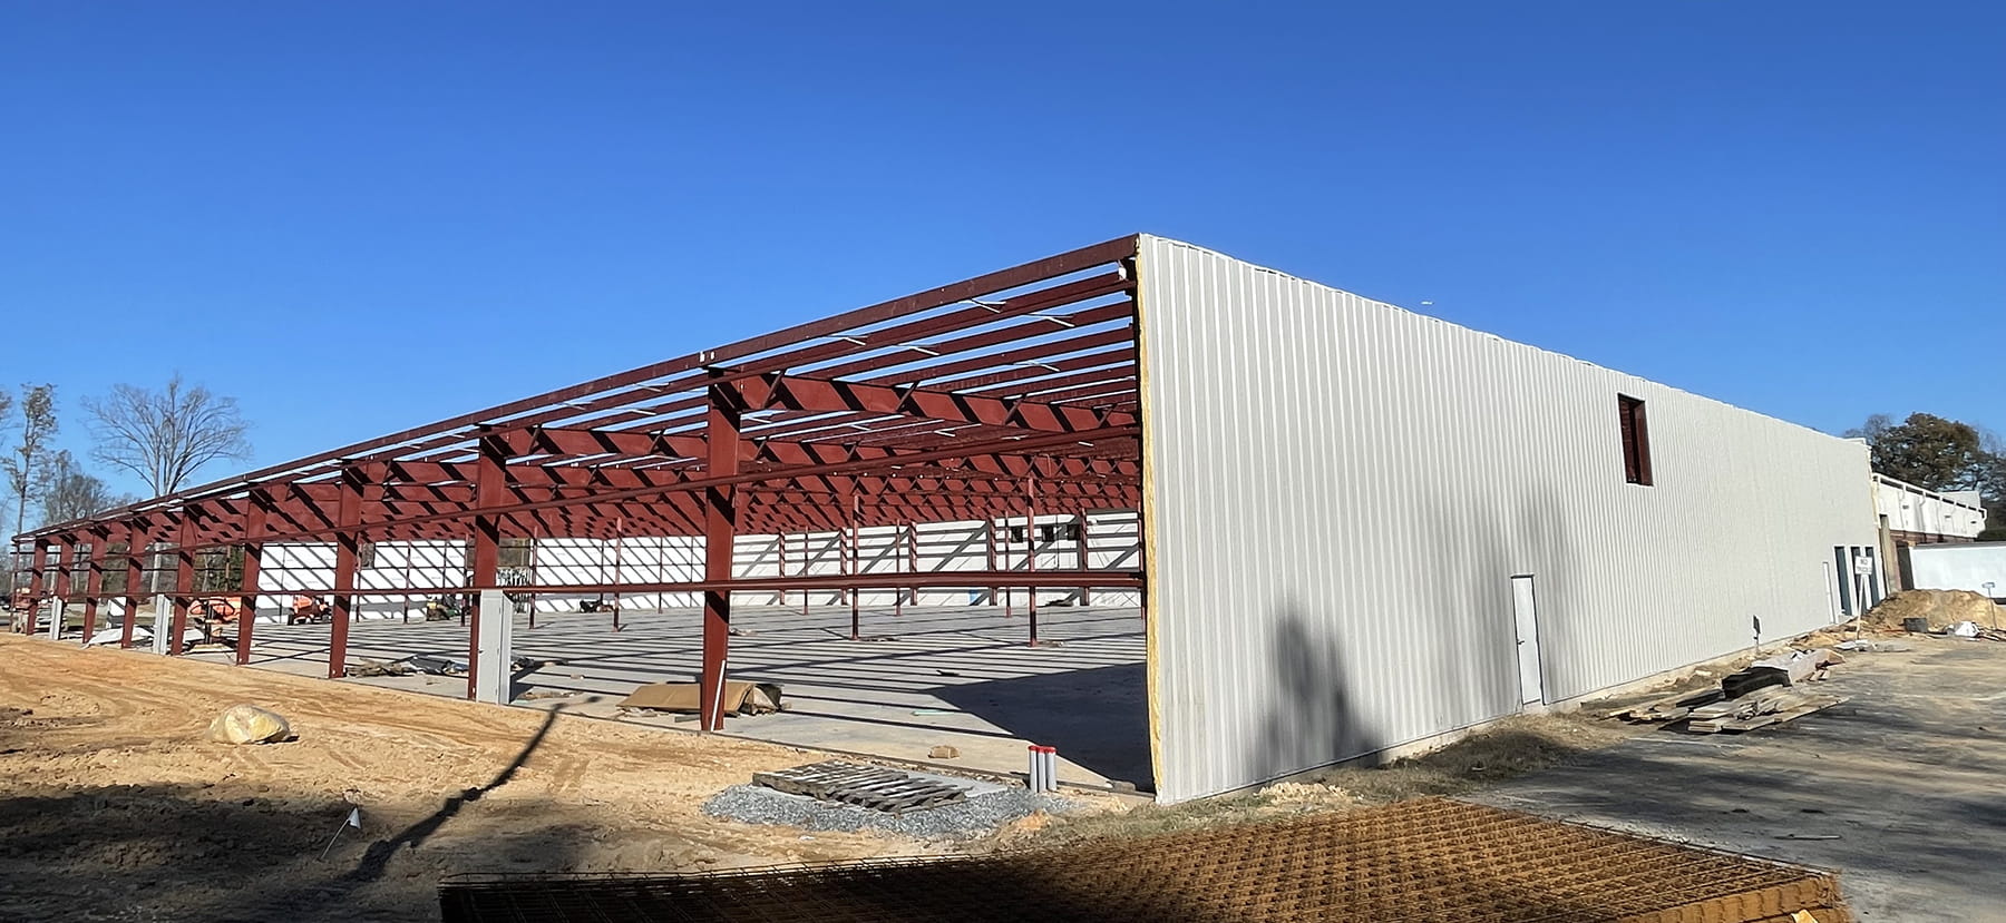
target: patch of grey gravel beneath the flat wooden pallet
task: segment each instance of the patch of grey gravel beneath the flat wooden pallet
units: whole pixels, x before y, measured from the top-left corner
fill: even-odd
[[[814,801],[760,785],[732,785],[704,803],[710,817],[744,823],[776,823],[810,831],[889,831],[915,839],[977,837],[1035,811],[1067,813],[1073,801],[1053,795],[1033,795],[1025,789],[999,789],[969,795],[967,801],[891,815],[857,805]]]

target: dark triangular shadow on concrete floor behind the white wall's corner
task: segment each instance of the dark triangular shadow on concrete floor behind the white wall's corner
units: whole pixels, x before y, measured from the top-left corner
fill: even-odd
[[[1011,735],[1057,747],[1107,779],[1155,791],[1149,771],[1149,683],[1139,663],[963,683],[929,691]]]

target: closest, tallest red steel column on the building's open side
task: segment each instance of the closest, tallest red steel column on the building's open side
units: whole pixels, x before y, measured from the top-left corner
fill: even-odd
[[[704,477],[738,475],[738,422],[742,400],[726,382],[710,384],[710,408],[704,412]],[[704,581],[732,579],[732,551],[738,545],[738,497],[732,485],[704,489]],[[704,591],[704,667],[696,691],[700,727],[724,727],[724,675],[732,643],[732,591]]]

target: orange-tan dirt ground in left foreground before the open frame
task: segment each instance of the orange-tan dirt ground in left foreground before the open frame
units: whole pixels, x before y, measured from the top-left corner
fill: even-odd
[[[297,741],[231,747],[253,703]],[[802,751],[0,637],[0,919],[437,919],[457,871],[911,855],[700,805]],[[321,849],[351,807],[363,829]]]

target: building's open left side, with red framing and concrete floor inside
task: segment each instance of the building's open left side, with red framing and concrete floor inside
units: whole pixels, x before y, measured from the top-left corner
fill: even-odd
[[[989,771],[1043,743],[1061,781],[1147,789],[1133,254],[1073,250],[16,553],[36,595],[128,647],[152,591],[169,637],[229,595],[261,619],[201,657],[335,679],[445,655],[463,687],[353,681],[602,717],[638,685],[696,681],[698,715],[626,717],[899,759],[947,745]],[[331,621],[287,625],[299,595]],[[427,623],[429,599],[467,605]],[[582,611],[598,603],[616,611]],[[728,717],[726,677],[780,683],[786,711]]]

